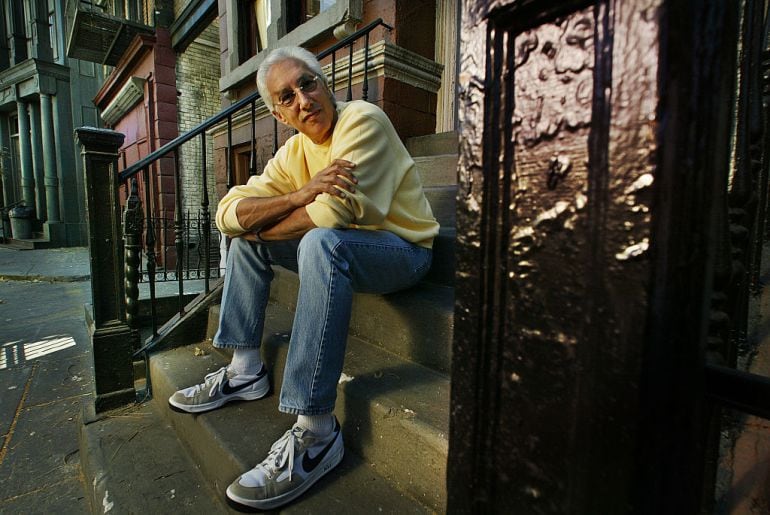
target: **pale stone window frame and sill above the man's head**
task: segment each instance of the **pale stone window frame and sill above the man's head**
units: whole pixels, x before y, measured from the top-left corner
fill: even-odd
[[[363,0],[337,0],[329,9],[287,32],[285,13],[288,12],[287,4],[290,1],[270,0],[271,23],[267,27],[265,50],[312,43],[331,34],[334,28],[341,24],[350,21],[360,23],[363,19]],[[238,19],[241,12],[238,8],[239,3],[240,0],[226,0],[228,51],[224,60],[225,69],[219,83],[221,91],[233,89],[247,80],[253,80],[259,64],[265,58],[265,50],[262,50],[244,62],[240,62],[242,54],[237,31],[242,25],[241,20]]]

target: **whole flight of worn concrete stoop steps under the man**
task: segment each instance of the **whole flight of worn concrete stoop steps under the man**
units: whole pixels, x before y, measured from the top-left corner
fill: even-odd
[[[447,133],[412,138],[407,147],[442,225],[434,243],[433,266],[426,279],[410,290],[354,296],[335,410],[343,427],[346,455],[339,467],[282,513],[445,511],[457,136]],[[266,398],[233,402],[198,415],[169,408],[167,399],[174,391],[200,383],[207,373],[230,361],[231,354],[211,345],[219,318],[219,306],[212,305],[206,339],[157,352],[150,358],[153,400],[141,409],[152,414],[156,429],[135,430],[131,424],[113,423],[112,430],[124,428],[125,434],[108,438],[107,422],[95,420],[83,425],[81,449],[89,454],[84,471],[86,482],[93,485],[94,512],[103,512],[107,485],[126,481],[119,477],[121,466],[111,462],[118,449],[129,447],[137,449],[136,464],[129,469],[130,493],[119,498],[121,489],[112,486],[110,502],[117,508],[130,503],[131,496],[142,500],[135,505],[136,510],[132,507],[113,513],[146,511],[139,508],[149,507],[147,499],[157,495],[163,486],[160,482],[166,478],[161,473],[160,479],[140,481],[138,471],[144,469],[150,471],[146,476],[158,476],[152,472],[153,464],[166,463],[164,456],[168,454],[184,455],[184,460],[180,457],[168,462],[184,471],[179,476],[185,478],[185,484],[194,485],[192,490],[176,490],[187,492],[183,506],[195,505],[182,512],[232,512],[224,504],[227,486],[263,459],[296,419],[278,412],[278,399],[298,285],[294,272],[275,268],[262,346],[272,383]],[[153,446],[148,442],[142,447],[145,433],[155,434],[154,441],[163,443]],[[180,465],[182,462],[187,465]],[[171,509],[173,498],[166,501]]]

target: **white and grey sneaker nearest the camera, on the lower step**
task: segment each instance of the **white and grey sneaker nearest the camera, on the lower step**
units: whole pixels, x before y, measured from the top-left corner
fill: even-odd
[[[267,458],[227,487],[230,502],[268,510],[304,493],[336,467],[345,453],[340,423],[327,436],[294,425],[273,444]]]

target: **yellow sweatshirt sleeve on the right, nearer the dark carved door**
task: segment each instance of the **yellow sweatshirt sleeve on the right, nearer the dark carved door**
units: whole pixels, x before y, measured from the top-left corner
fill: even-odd
[[[374,106],[356,106],[352,113],[345,113],[335,128],[330,155],[334,159],[356,164],[356,191],[344,199],[319,195],[306,206],[310,219],[318,227],[381,225],[401,179],[413,164],[385,114]]]

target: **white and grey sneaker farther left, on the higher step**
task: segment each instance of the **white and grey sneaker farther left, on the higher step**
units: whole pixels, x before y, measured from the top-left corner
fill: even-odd
[[[270,390],[265,365],[257,375],[230,376],[227,367],[208,374],[203,383],[184,388],[168,399],[172,409],[201,413],[218,408],[226,402],[261,399]]]

